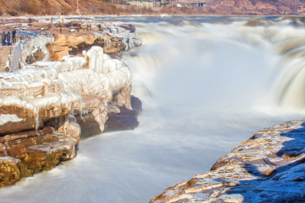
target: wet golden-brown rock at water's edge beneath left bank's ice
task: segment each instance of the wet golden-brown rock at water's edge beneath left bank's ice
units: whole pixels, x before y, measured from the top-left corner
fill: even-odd
[[[0,186],[12,184],[22,177],[33,176],[54,168],[58,163],[75,157],[80,127],[72,115],[66,133],[61,127],[44,126],[0,137]],[[70,122],[69,122],[70,117]],[[66,121],[64,123],[67,123]]]

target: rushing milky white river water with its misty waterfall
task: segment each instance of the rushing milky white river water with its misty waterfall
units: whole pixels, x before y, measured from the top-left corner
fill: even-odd
[[[117,56],[143,102],[139,127],[82,140],[76,159],[1,188],[1,202],[148,202],[259,129],[303,118],[303,23],[252,19],[98,18],[144,40]]]

